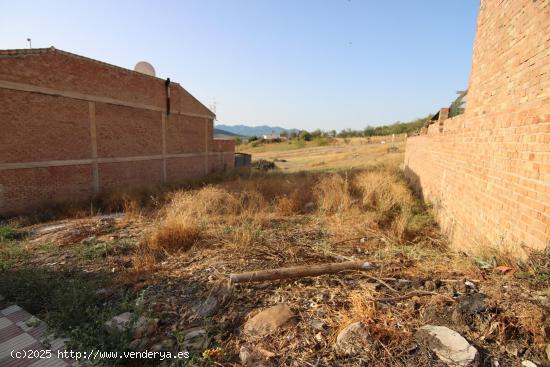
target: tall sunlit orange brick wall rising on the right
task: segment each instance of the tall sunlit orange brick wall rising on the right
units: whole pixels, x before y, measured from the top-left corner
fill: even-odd
[[[407,140],[405,172],[459,248],[550,242],[550,2],[482,0],[465,113]]]

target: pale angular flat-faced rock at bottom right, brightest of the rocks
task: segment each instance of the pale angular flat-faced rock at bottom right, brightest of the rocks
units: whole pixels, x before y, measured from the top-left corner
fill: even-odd
[[[477,349],[459,333],[445,326],[423,326],[416,332],[416,338],[427,344],[448,366],[473,367],[479,364]]]

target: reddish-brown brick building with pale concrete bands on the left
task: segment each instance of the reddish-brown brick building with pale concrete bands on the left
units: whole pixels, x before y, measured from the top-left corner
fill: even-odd
[[[2,50],[0,215],[230,169],[214,117],[177,83],[53,47]]]

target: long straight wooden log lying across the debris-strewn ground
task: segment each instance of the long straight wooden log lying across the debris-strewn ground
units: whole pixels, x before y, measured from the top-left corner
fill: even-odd
[[[304,265],[290,268],[249,271],[229,275],[231,283],[263,282],[266,280],[303,278],[323,274],[334,274],[346,270],[370,270],[374,266],[366,261],[346,261],[341,263]]]

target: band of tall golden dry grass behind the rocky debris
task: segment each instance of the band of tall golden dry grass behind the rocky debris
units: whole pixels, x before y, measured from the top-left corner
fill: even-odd
[[[188,251],[203,238],[250,248],[262,243],[272,221],[301,215],[325,223],[337,239],[389,230],[399,241],[415,205],[396,169],[384,165],[363,172],[258,173],[151,197],[165,204],[142,244],[149,253],[136,255],[148,263],[165,252]],[[134,204],[129,208],[143,215]]]

